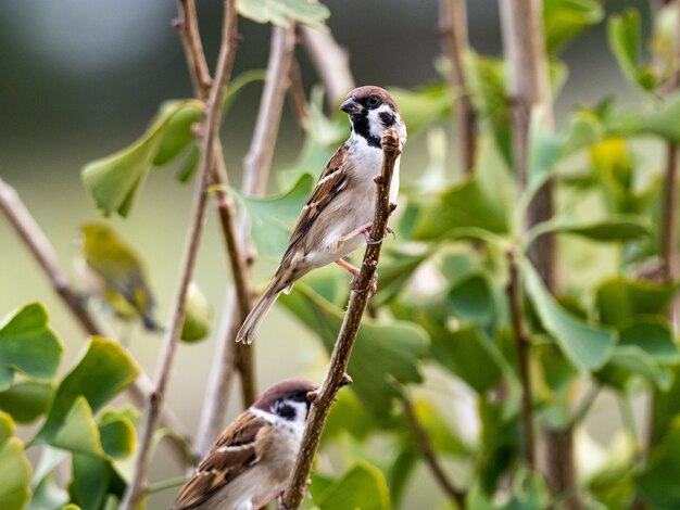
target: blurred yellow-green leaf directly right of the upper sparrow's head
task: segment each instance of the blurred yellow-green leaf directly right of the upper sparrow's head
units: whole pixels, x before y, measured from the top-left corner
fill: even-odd
[[[449,89],[442,84],[430,85],[418,90],[391,87],[390,93],[399,104],[399,111],[408,126],[411,136],[451,115],[453,99]]]

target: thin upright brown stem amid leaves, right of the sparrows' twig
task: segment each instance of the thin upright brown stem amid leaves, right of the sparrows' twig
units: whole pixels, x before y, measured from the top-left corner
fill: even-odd
[[[524,303],[521,297],[521,283],[519,281],[519,267],[517,254],[513,251],[507,253],[509,267],[509,281],[507,284],[507,301],[509,303],[515,345],[517,348],[517,366],[519,367],[519,381],[521,383],[521,425],[524,431],[525,461],[529,469],[536,468],[536,444],[533,434],[533,398],[531,393],[530,348],[531,340],[527,332],[524,317]]]

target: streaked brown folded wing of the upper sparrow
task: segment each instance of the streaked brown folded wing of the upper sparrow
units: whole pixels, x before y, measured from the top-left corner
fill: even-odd
[[[312,194],[307,199],[305,206],[300,213],[298,222],[293,228],[293,233],[290,235],[288,242],[288,248],[284,255],[284,260],[288,258],[295,245],[304,238],[304,234],[308,232],[316,218],[318,218],[322,211],[340,193],[348,183],[348,171],[343,163],[348,152],[347,144],[342,145],[332,155],[326,168],[316,181]]]

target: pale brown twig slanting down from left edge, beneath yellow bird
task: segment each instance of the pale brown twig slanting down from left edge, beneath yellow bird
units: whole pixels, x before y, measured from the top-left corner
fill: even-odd
[[[26,247],[48,277],[52,289],[71,310],[83,331],[92,336],[106,336],[97,326],[87,308],[85,308],[77,293],[71,288],[68,277],[60,267],[56,252],[47,235],[24,205],[16,190],[2,179],[0,179],[0,209],[18,237],[24,241]],[[144,406],[152,391],[153,384],[144,372],[127,388],[130,399],[140,408]],[[189,441],[189,434],[185,426],[169,409],[163,410],[161,423],[172,429],[177,436],[187,442]],[[188,459],[181,446],[176,441],[172,441],[171,447],[173,456],[181,466],[186,466]]]

